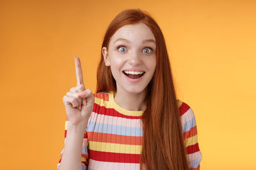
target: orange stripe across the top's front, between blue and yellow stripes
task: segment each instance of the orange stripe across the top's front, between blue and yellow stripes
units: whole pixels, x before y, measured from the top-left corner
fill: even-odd
[[[105,134],[100,132],[87,132],[88,141],[104,143],[119,143],[125,145],[142,145],[142,136],[124,136],[118,134]]]

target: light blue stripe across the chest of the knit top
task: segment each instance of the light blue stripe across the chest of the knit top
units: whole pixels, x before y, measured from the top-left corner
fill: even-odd
[[[106,134],[118,134],[123,136],[143,136],[141,127],[126,127],[120,125],[100,124],[88,122],[87,132],[100,132]]]

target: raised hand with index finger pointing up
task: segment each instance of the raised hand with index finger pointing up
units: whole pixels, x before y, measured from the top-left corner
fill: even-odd
[[[68,122],[73,125],[87,124],[93,110],[94,97],[92,90],[85,90],[81,62],[75,57],[77,86],[72,87],[63,97]]]

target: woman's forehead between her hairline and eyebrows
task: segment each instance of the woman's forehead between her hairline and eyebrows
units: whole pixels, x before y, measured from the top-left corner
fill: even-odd
[[[118,38],[128,39],[130,41],[143,41],[144,39],[156,39],[154,34],[148,27],[148,25],[143,23],[124,25],[118,29],[115,34],[110,39],[110,43],[113,43]]]

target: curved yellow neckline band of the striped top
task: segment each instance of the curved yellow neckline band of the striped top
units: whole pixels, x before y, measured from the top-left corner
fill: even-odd
[[[113,108],[115,108],[116,111],[118,111],[119,113],[122,113],[123,115],[140,117],[140,116],[142,116],[142,114],[144,112],[142,110],[140,110],[140,111],[126,110],[125,108],[122,108],[121,106],[119,106],[114,100],[114,92],[113,91],[109,92],[109,101],[111,102],[111,104],[113,104]]]

